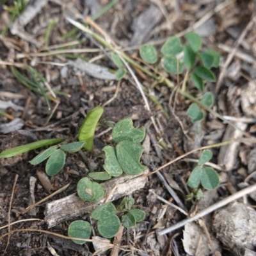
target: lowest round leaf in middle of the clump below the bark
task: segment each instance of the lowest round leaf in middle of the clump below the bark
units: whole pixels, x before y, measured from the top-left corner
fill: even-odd
[[[100,235],[106,238],[114,237],[118,233],[120,226],[120,220],[116,215],[102,218],[97,224]]]

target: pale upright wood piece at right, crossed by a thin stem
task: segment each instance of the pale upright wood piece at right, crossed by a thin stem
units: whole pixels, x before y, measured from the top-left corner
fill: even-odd
[[[247,125],[242,122],[237,122],[236,126],[242,131],[245,131],[247,127]],[[228,125],[222,141],[236,140],[238,138],[241,138],[241,136],[241,131],[239,131],[238,129],[235,130],[233,127]],[[223,170],[228,172],[235,168],[239,145],[239,142],[233,142],[220,148],[220,153],[218,155],[218,165],[220,165]]]

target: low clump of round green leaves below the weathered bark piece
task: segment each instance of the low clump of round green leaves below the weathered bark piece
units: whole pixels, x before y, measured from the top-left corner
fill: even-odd
[[[121,204],[116,208],[111,202],[99,205],[92,211],[92,218],[97,220],[97,230],[102,237],[111,238],[116,236],[120,226],[123,225],[126,228],[135,227],[136,222],[142,221],[145,218],[145,212],[139,209],[131,209],[134,205],[134,199],[131,196],[125,196],[122,199]],[[116,215],[120,215],[121,221]],[[68,236],[77,238],[88,238],[88,223],[83,221],[83,225],[79,227],[77,221],[70,224],[68,228]],[[69,230],[72,230],[70,232]],[[84,241],[73,240],[75,243],[85,243]]]

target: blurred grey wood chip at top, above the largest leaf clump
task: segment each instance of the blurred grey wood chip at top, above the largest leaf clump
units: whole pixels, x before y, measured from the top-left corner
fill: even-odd
[[[152,31],[156,24],[161,20],[162,13],[154,5],[151,5],[147,10],[140,13],[138,17],[132,21],[131,29],[134,31],[131,45],[143,43],[145,37]]]

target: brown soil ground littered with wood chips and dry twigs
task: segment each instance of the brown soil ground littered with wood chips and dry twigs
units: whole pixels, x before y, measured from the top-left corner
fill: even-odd
[[[74,29],[67,17],[84,22],[84,17],[87,15],[95,17],[94,15],[104,6],[111,3],[110,0],[39,2],[29,1],[29,4],[37,7],[42,5],[39,10],[33,10],[36,12],[35,17],[27,22],[23,20],[25,22],[23,25],[22,22],[17,23],[17,27],[11,24],[11,29],[0,36],[0,109],[8,114],[4,116],[1,112],[2,115],[0,115],[1,151],[50,138],[65,138],[72,141],[86,113],[100,104],[104,106],[103,121],[118,122],[122,118],[131,116],[134,127],[142,125],[146,127],[147,141],[143,144],[145,153],[141,157],[141,163],[148,167],[149,172],[194,148],[225,140],[246,138],[246,136],[254,138],[256,132],[255,1],[120,0],[95,20],[95,26],[93,24],[90,26],[95,33],[108,35],[110,38],[108,40],[115,42],[116,47],[120,47],[121,51],[125,51],[134,60],[140,58],[138,48],[141,44],[150,42],[159,50],[168,36],[186,32],[188,28],[194,30],[202,36],[203,49],[214,49],[221,55],[220,68],[214,69],[217,82],[207,83],[204,90],[204,92],[214,93],[215,103],[212,109],[232,121],[236,127],[245,131],[244,133],[239,130],[235,132],[232,128],[230,130],[230,125],[207,111],[204,111],[204,121],[191,124],[186,116],[191,101],[177,95],[172,102],[169,102],[172,88],[168,88],[161,81],[154,83],[152,77],[135,67],[132,68],[140,83],[143,84],[150,111],[145,109],[145,100],[130,74],[127,74],[119,83],[115,79],[101,79],[99,74],[93,76],[86,74],[83,70],[74,67],[72,63],[74,64],[74,61],[80,58],[83,61],[92,61],[102,67],[110,68],[112,71],[116,69],[109,58],[108,49],[88,33],[76,29],[72,35],[67,36],[67,33]],[[0,3],[0,31],[3,31],[12,17],[6,6],[13,8],[14,3],[13,1]],[[100,34],[97,28],[101,28],[104,33]],[[63,45],[70,42],[71,44]],[[78,52],[76,49],[81,51]],[[62,50],[67,51],[56,52]],[[25,65],[33,67],[42,74],[53,90],[65,93],[49,101],[51,110],[47,108],[44,97],[26,88],[20,79],[15,77],[15,70],[18,70],[27,79],[32,79],[28,69],[24,68]],[[164,73],[164,76],[169,75]],[[169,77],[174,84],[177,84],[176,76]],[[180,79],[182,81],[184,77],[181,76]],[[196,99],[202,96],[202,93],[195,90],[195,87],[189,83],[188,91]],[[150,98],[152,95],[158,103],[152,100],[152,97]],[[3,102],[9,100],[14,105],[5,107]],[[52,111],[57,101],[60,104],[55,111]],[[173,115],[173,108],[170,106],[175,107],[177,118]],[[152,117],[159,131],[156,131],[156,127],[152,124]],[[13,125],[14,128],[3,126],[18,118],[20,118],[19,122]],[[49,178],[52,186],[50,192],[38,180],[37,172],[44,172],[45,164],[32,166],[28,163],[36,153],[40,152],[40,149],[1,159],[0,255],[3,255],[8,243],[8,236],[1,237],[8,232],[8,227],[2,228],[8,225],[8,221],[10,223],[20,221],[10,226],[10,230],[36,228],[67,236],[68,225],[73,220],[89,219],[88,216],[79,216],[62,221],[51,228],[42,221],[45,218],[44,211],[47,203],[76,193],[78,180],[92,168],[102,170],[104,161],[103,157],[98,157],[98,154],[104,146],[111,143],[111,131],[104,122],[97,127],[96,135],[101,133],[101,136],[95,138],[93,151],[84,152],[87,161],[84,162],[84,158],[79,154],[67,154],[63,170]],[[149,175],[146,186],[132,194],[135,199],[134,207],[146,212],[145,220],[138,223],[136,228],[124,229],[120,238],[119,254],[109,250],[101,255],[234,255],[232,248],[228,248],[227,244],[224,246],[212,231],[212,215],[205,219],[205,222],[208,221],[206,225],[199,225],[196,221],[195,227],[187,226],[185,231],[182,227],[172,233],[159,236],[157,231],[187,217],[148,192],[149,189],[154,189],[161,198],[179,205],[173,195],[170,195],[167,188],[169,186],[186,211],[195,215],[196,212],[211,204],[254,184],[255,145],[252,142],[232,145],[233,147],[212,148],[211,162],[220,175],[220,186],[213,191],[203,189],[206,198],[204,204],[198,200],[186,200],[186,195],[191,193],[186,182],[195,166],[193,159],[198,159],[200,152],[195,152],[163,168],[159,171],[162,179],[156,173]],[[222,151],[221,148],[223,148]],[[15,175],[19,177],[13,190]],[[33,213],[22,213],[30,204],[29,180],[31,177],[36,178],[35,202],[44,199],[68,183],[70,186],[49,198],[47,202],[36,206]],[[239,200],[253,207],[256,205],[255,201],[255,195],[248,196],[244,201]],[[118,202],[115,203],[118,204]],[[11,207],[10,204],[12,204]],[[31,218],[41,221],[24,221]],[[191,229],[186,230],[186,228]],[[197,240],[193,237],[193,232],[199,234]],[[202,237],[209,238],[203,245]],[[51,247],[55,252],[51,252]],[[13,232],[5,255],[78,256],[92,255],[93,252],[95,249],[92,243],[78,245],[62,237],[30,230]]]

